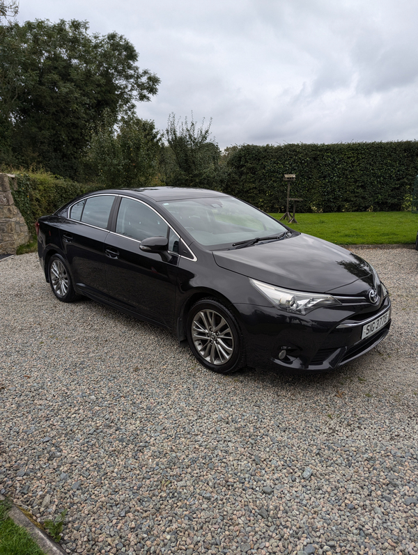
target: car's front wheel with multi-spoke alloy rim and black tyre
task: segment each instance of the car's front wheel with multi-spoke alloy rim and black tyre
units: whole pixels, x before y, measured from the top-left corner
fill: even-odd
[[[201,299],[187,316],[187,341],[198,361],[219,374],[245,366],[240,328],[231,312],[215,299]]]

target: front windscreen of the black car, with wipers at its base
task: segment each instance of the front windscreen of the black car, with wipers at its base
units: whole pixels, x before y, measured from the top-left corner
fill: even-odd
[[[222,248],[286,231],[276,219],[238,198],[188,198],[164,201],[162,205],[194,240],[206,247]]]

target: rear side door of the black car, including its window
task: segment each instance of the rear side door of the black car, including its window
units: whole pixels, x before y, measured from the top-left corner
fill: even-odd
[[[84,198],[72,205],[61,226],[61,244],[72,277],[89,297],[107,298],[104,240],[115,198],[110,194]]]

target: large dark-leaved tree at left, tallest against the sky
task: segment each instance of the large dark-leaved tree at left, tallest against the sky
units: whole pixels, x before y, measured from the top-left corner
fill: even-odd
[[[160,79],[139,70],[131,42],[90,35],[86,22],[11,23],[0,40],[0,155],[8,151],[14,163],[80,177],[104,115],[116,123],[157,93]]]

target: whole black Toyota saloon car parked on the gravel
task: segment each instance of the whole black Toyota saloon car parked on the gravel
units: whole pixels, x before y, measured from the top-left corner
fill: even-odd
[[[389,295],[369,263],[217,191],[98,191],[37,231],[60,301],[86,295],[174,331],[219,373],[332,370],[389,331]]]

